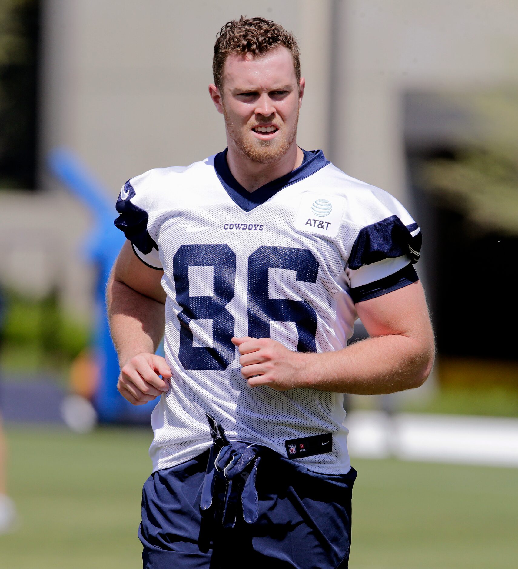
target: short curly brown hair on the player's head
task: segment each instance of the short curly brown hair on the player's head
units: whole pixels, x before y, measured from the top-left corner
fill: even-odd
[[[291,32],[285,30],[273,20],[264,18],[245,18],[227,22],[218,32],[214,44],[212,73],[214,83],[221,90],[223,86],[223,65],[230,53],[252,53],[263,55],[275,47],[284,46],[293,57],[297,83],[300,81],[300,59],[297,40]]]

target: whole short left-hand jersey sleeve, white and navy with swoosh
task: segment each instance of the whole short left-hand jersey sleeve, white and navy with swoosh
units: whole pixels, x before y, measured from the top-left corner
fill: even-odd
[[[159,258],[159,249],[148,230],[149,215],[153,208],[153,200],[148,195],[149,189],[132,184],[133,179],[126,182],[119,193],[115,209],[119,217],[114,221],[128,240],[131,241],[135,255],[148,267],[163,270]]]

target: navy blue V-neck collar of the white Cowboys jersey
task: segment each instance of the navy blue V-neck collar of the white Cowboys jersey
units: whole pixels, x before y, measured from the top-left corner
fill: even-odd
[[[329,160],[324,156],[324,152],[321,150],[302,150],[304,152],[304,159],[302,164],[284,174],[276,180],[272,180],[267,184],[262,185],[253,192],[248,192],[243,186],[234,178],[232,172],[230,171],[229,165],[227,164],[227,152],[229,149],[223,150],[214,156],[214,170],[219,178],[219,181],[225,188],[226,192],[229,194],[231,199],[239,205],[241,209],[246,212],[251,211],[258,205],[264,204],[266,200],[269,200],[281,189],[287,187],[288,185],[300,182],[304,178],[314,174],[320,168],[329,164]]]

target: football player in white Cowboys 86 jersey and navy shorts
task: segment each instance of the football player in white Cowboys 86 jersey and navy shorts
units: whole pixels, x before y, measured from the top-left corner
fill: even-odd
[[[134,405],[160,397],[144,567],[344,568],[343,393],[417,387],[432,367],[420,229],[297,146],[305,80],[283,27],[225,24],[213,72],[227,148],[135,176],[117,201],[118,389]],[[346,347],[358,316],[371,337]]]

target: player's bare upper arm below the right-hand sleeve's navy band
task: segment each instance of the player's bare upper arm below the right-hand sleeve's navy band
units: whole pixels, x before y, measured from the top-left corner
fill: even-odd
[[[370,336],[408,336],[433,349],[432,324],[420,281],[358,302],[356,310]]]

